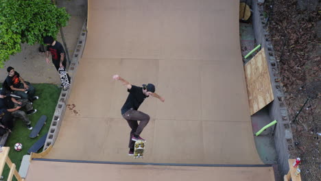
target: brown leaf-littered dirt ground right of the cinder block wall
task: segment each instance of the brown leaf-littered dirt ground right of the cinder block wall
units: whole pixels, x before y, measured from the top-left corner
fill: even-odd
[[[321,180],[320,3],[278,0],[264,8],[292,121],[296,147],[290,154],[302,160],[302,180]]]

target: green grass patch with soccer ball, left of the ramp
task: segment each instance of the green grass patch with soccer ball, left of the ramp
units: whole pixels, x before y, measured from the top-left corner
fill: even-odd
[[[30,121],[32,121],[32,126],[36,125],[36,122],[42,115],[47,116],[46,124],[41,129],[39,136],[36,138],[29,138],[29,134],[31,130],[28,130],[27,127],[23,124],[21,119],[16,119],[14,122],[14,128],[12,129],[12,133],[9,135],[5,147],[10,147],[9,158],[11,161],[16,164],[16,170],[19,171],[21,160],[24,155],[28,154],[27,151],[29,147],[31,147],[38,138],[43,136],[49,131],[49,127],[51,125],[51,119],[53,117],[53,113],[55,112],[55,108],[59,99],[61,88],[53,85],[53,84],[32,84],[36,89],[36,95],[39,96],[39,99],[34,101],[34,109],[37,110],[35,114],[29,115]],[[14,144],[21,143],[23,145],[23,149],[21,152],[16,152],[14,150]],[[42,152],[42,149],[40,149]],[[8,166],[3,169],[3,177],[8,177],[10,169]],[[15,180],[15,179],[14,179]]]

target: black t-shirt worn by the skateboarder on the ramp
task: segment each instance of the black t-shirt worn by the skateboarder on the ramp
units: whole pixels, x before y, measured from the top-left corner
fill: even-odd
[[[143,88],[139,86],[132,85],[132,88],[127,89],[129,95],[121,108],[121,114],[124,114],[126,111],[133,108],[134,110],[138,110],[139,106],[143,103],[145,98],[147,97],[143,93]]]

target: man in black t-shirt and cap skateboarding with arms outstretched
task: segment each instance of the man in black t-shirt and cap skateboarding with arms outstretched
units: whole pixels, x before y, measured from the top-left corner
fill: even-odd
[[[114,80],[120,80],[123,85],[127,87],[127,91],[129,93],[125,104],[123,104],[123,107],[121,108],[121,114],[132,129],[130,131],[130,142],[128,146],[130,148],[128,155],[132,156],[134,155],[135,141],[145,141],[145,139],[141,138],[139,135],[147,125],[148,121],[150,121],[150,116],[148,114],[138,110],[139,106],[141,106],[145,98],[150,97],[150,95],[160,99],[160,101],[165,101],[165,99],[155,93],[155,86],[153,84],[143,84],[143,87],[140,87],[130,84],[122,77],[119,77],[119,75],[114,75],[112,78]],[[140,121],[140,123],[137,121]]]

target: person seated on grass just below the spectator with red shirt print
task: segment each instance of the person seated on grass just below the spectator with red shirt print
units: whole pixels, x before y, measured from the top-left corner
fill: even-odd
[[[27,113],[21,108],[25,108]],[[34,110],[32,103],[28,99],[14,99],[5,94],[4,90],[0,92],[0,109],[6,109],[8,112],[11,112],[13,117],[21,118],[23,123],[27,125],[29,130],[32,130],[31,121],[27,117],[29,114],[34,114],[37,110]]]

